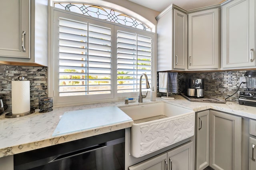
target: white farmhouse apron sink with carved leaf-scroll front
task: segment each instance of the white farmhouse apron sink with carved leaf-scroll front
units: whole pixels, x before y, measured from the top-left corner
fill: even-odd
[[[130,130],[130,153],[136,158],[194,136],[194,111],[164,102],[120,109],[134,121]]]

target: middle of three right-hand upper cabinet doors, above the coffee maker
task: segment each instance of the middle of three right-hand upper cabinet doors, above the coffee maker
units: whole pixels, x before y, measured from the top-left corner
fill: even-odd
[[[219,67],[218,8],[188,14],[188,69]]]

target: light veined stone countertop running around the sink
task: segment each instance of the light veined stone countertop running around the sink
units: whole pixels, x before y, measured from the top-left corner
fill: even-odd
[[[256,107],[239,105],[238,102],[227,102],[226,104],[190,102],[180,95],[176,95],[174,100],[157,98],[155,102],[161,101],[184,107],[195,112],[206,109],[215,109],[242,117],[256,119]],[[64,134],[54,134],[54,130],[57,129],[56,127],[60,122],[61,117],[66,112],[76,113],[74,111],[78,111],[79,113],[84,109],[127,107],[155,102],[151,102],[150,99],[147,98],[143,99],[143,103],[138,103],[136,101],[134,103],[129,103],[128,105],[125,105],[124,101],[116,101],[54,107],[54,110],[48,113],[38,113],[39,110],[37,110],[36,113],[19,118],[5,118],[3,114],[0,116],[0,157],[86,138],[114,130],[129,128],[133,123],[131,119],[128,119],[129,117],[126,117],[127,115],[124,115],[123,118],[126,120],[116,120],[116,122],[110,124],[105,123],[102,126],[92,128],[87,127],[82,130],[75,130],[74,132],[66,131]],[[123,114],[122,111],[120,114]]]

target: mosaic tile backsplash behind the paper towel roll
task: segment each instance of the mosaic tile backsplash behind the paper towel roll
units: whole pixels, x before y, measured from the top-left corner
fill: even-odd
[[[0,97],[12,111],[12,82],[19,76],[30,81],[30,107],[38,109],[38,98],[48,97],[47,67],[0,65]]]

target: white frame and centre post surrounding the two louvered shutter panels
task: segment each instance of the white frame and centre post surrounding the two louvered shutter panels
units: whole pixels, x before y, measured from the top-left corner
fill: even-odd
[[[112,62],[111,62],[111,75],[112,75],[112,80],[111,80],[111,93],[110,94],[104,94],[104,95],[83,95],[83,96],[69,96],[69,97],[59,97],[58,95],[58,89],[54,88],[57,87],[56,83],[59,83],[58,80],[54,79],[54,77],[58,77],[58,68],[54,66],[55,62],[57,60],[54,60],[54,56],[58,55],[58,47],[54,47],[54,39],[56,38],[56,33],[54,33],[54,12],[61,12],[63,16],[71,16],[70,13],[78,18],[86,18],[86,20],[90,20],[90,23],[93,24],[95,23],[104,23],[106,24],[106,27],[109,27],[110,25],[113,26],[112,31],[116,32],[118,30],[122,31],[134,31],[134,32],[140,32],[140,35],[143,34],[151,34],[152,35],[152,65],[151,65],[151,86],[155,87],[155,41],[154,39],[156,38],[156,35],[154,32],[147,32],[144,30],[140,30],[137,28],[132,28],[132,27],[127,27],[127,26],[122,26],[113,22],[108,22],[104,20],[100,20],[97,18],[92,18],[90,16],[84,16],[82,14],[77,14],[74,12],[68,12],[66,10],[61,10],[58,8],[50,7],[50,38],[49,38],[49,49],[50,49],[50,59],[49,59],[49,66],[48,67],[48,75],[49,75],[49,83],[48,83],[48,91],[49,91],[49,97],[54,98],[54,106],[65,106],[65,105],[79,105],[79,104],[87,104],[87,103],[100,103],[100,102],[107,102],[107,101],[117,101],[117,100],[122,100],[126,97],[134,97],[138,98],[138,93],[139,92],[130,92],[130,93],[117,93],[117,65],[116,65],[116,40],[112,40],[112,45],[111,45],[111,51],[114,54],[112,56]],[[56,16],[55,16],[56,17]],[[56,20],[56,18],[55,18]],[[97,24],[96,24],[97,25]],[[115,26],[115,29],[114,29]],[[113,35],[113,34],[112,34]],[[115,37],[116,38],[116,37]],[[151,87],[151,88],[152,88]],[[155,88],[154,88],[155,89]],[[150,91],[150,89],[148,89]],[[148,97],[150,94],[148,95]]]

